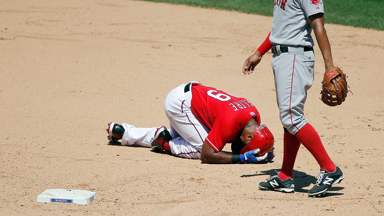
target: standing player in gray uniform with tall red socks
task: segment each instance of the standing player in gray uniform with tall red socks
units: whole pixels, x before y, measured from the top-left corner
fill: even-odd
[[[300,144],[320,165],[316,184],[308,196],[320,196],[344,179],[344,174],[329,158],[316,130],[304,117],[307,90],[314,78],[314,53],[311,31],[314,30],[325,62],[325,71],[337,92],[341,75],[335,73],[331,46],[324,28],[324,6],[319,0],[275,0],[271,32],[265,42],[244,63],[243,73],[252,73],[262,56],[272,49],[277,105],[284,126],[284,156],[280,172],[261,182],[261,190],[295,191],[293,166]],[[343,93],[344,94],[344,93]],[[342,100],[344,101],[344,100]],[[340,102],[341,103],[341,102]]]

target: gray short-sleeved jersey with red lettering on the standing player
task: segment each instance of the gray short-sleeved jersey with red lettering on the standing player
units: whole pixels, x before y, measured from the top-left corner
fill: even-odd
[[[316,13],[324,13],[322,0],[275,0],[270,42],[313,47],[308,17]]]

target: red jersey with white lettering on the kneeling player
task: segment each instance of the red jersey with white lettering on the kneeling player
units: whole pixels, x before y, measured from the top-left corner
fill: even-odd
[[[192,112],[210,129],[205,140],[216,152],[235,141],[251,118],[256,117],[260,125],[260,114],[247,99],[198,83],[192,83],[191,89]]]

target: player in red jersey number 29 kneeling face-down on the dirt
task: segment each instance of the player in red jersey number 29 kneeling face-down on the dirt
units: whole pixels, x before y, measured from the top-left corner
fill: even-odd
[[[109,140],[121,139],[122,145],[151,147],[203,163],[261,163],[275,156],[273,135],[260,125],[257,109],[245,98],[192,81],[169,92],[164,110],[170,131],[164,126],[136,128],[112,122],[107,128]],[[234,154],[222,152],[226,143],[232,143]],[[267,146],[265,153],[257,148],[260,143]]]

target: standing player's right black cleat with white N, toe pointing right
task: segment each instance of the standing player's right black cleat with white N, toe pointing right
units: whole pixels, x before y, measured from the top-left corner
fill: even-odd
[[[333,173],[328,173],[325,169],[320,169],[319,174],[316,176],[317,181],[313,188],[308,191],[308,196],[315,197],[324,194],[337,183],[344,179],[344,174],[338,166]]]

